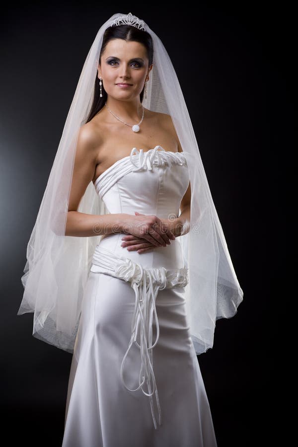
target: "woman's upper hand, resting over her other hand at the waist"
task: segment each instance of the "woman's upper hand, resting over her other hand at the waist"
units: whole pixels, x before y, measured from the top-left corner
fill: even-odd
[[[154,215],[146,216],[135,212],[137,216],[125,215],[122,232],[132,234],[140,239],[146,239],[151,244],[160,247],[170,244],[170,239],[174,240],[175,235]]]

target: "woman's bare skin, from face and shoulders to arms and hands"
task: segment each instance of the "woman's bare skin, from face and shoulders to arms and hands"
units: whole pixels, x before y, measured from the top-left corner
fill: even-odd
[[[146,48],[146,39],[142,42],[124,40],[129,32],[129,25],[121,25],[112,30],[112,33],[106,35],[104,51],[98,64],[98,78],[102,79],[101,83],[104,86],[101,87],[101,91],[104,90],[107,100],[100,100],[99,92],[95,95],[90,112],[92,118],[89,118],[79,131],[66,235],[94,235],[94,225],[98,224],[98,217],[84,216],[82,220],[81,214],[76,211],[79,202],[90,181],[92,180],[94,186],[99,186],[104,172],[108,170],[110,173],[115,163],[119,166],[121,159],[130,156],[133,146],[143,148],[142,152],[144,155],[147,153],[145,156],[148,159],[152,158],[150,148],[153,146],[155,148],[161,146],[159,150],[166,148],[171,155],[178,151],[182,152],[171,117],[142,107],[141,98],[144,95],[142,90],[149,80],[149,72],[152,69],[151,47]],[[115,38],[115,30],[117,35],[122,34],[122,37]],[[140,116],[142,116],[141,130],[132,133],[133,125],[129,127],[127,123],[139,122]],[[144,209],[144,204],[141,202],[134,206]],[[154,246],[169,244],[170,238],[174,239],[173,232],[179,235],[183,224],[190,220],[190,185],[182,198],[181,206],[182,214],[174,220],[162,220],[156,216],[136,217],[131,214],[123,216],[123,213],[102,216],[101,222],[104,227],[102,232],[103,234],[113,232],[111,227],[115,225],[121,228],[121,231],[124,231],[125,227],[132,226],[134,234],[123,238],[126,241],[125,246],[129,246],[129,250],[144,253]],[[162,222],[166,231],[162,230]],[[142,231],[145,231],[145,234],[140,238]]]

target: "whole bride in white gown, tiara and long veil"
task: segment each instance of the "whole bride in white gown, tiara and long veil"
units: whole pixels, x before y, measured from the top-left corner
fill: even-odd
[[[28,244],[18,313],[73,353],[62,447],[217,446],[197,355],[243,292],[167,58],[131,13],[100,28]]]

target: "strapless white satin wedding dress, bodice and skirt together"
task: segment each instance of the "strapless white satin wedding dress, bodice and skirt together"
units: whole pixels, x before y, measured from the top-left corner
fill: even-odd
[[[169,219],[179,215],[189,180],[183,152],[156,146],[134,148],[94,186],[110,213]],[[187,321],[179,237],[139,254],[121,247],[123,235],[106,235],[94,251],[62,447],[217,447]]]

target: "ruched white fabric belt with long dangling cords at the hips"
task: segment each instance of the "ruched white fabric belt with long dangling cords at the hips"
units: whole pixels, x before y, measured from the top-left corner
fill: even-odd
[[[121,364],[121,380],[123,385],[129,391],[142,389],[150,399],[151,415],[154,428],[157,424],[153,409],[153,394],[155,395],[158,408],[158,421],[161,425],[161,410],[158,399],[158,391],[153,372],[152,349],[156,346],[159,338],[159,324],[155,307],[155,300],[159,290],[172,289],[175,287],[185,287],[188,284],[188,269],[167,270],[164,267],[145,269],[142,265],[133,262],[129,258],[118,257],[106,248],[96,245],[92,258],[90,271],[93,273],[104,273],[114,276],[131,283],[135,291],[135,308],[132,319],[132,336],[128,349]],[[156,324],[156,339],[152,344],[152,322],[153,316]],[[137,333],[140,327],[140,343],[137,342]],[[135,343],[141,353],[141,370],[139,374],[139,386],[135,389],[129,388],[123,378],[123,370],[126,357]],[[144,384],[147,384],[148,392],[144,390]],[[151,390],[152,382],[152,390]]]

